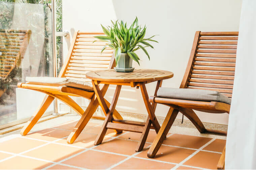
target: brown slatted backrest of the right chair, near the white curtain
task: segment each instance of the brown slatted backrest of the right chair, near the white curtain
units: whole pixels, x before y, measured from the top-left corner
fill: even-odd
[[[238,32],[200,32],[195,38],[180,88],[218,91],[231,98]]]

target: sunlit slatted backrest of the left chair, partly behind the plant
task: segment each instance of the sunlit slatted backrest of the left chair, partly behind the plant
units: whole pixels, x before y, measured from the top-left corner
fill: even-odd
[[[101,49],[107,42],[94,38],[97,35],[104,35],[104,33],[75,32],[68,56],[62,66],[59,77],[91,82],[91,79],[85,76],[87,72],[110,69],[116,65],[113,49],[106,48],[101,53]],[[94,42],[95,40],[97,41]]]

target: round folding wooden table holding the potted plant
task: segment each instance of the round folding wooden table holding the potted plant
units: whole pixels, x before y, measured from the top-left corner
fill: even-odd
[[[98,70],[86,73],[86,77],[92,79],[93,88],[99,104],[106,115],[105,121],[102,125],[100,133],[98,134],[94,145],[101,144],[107,129],[116,129],[117,132],[122,130],[142,133],[136,152],[143,149],[150,128],[155,129],[158,133],[160,125],[155,116],[156,103],[151,104],[149,102],[149,95],[146,90],[145,84],[157,81],[155,95],[157,90],[162,85],[162,80],[173,77],[173,73],[164,70],[153,70],[153,69],[135,69],[133,72],[116,72],[114,69]],[[99,88],[99,84],[115,84],[117,85],[113,100],[110,107],[108,108],[102,95],[102,91]],[[146,123],[120,120],[113,118],[113,111],[117,105],[118,97],[122,86],[131,86],[140,88],[145,106],[148,111],[148,118]],[[151,126],[151,124],[153,126]]]

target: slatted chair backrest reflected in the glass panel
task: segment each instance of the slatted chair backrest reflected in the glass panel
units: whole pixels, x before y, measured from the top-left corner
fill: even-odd
[[[30,36],[30,30],[0,30],[0,78],[21,64]]]

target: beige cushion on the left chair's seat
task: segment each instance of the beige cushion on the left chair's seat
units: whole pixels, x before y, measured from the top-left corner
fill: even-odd
[[[92,84],[65,77],[26,77],[26,81],[28,84],[67,86],[71,88],[82,89],[88,92],[94,92]]]

